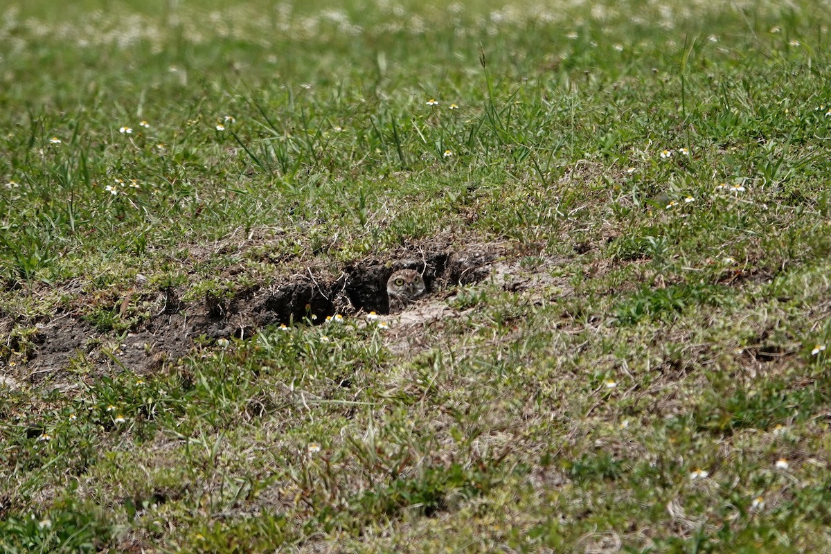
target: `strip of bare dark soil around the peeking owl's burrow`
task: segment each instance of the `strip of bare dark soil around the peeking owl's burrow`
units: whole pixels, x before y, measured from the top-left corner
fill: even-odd
[[[520,273],[524,275],[519,266],[506,262],[511,254],[515,252],[509,252],[504,244],[494,243],[460,251],[402,248],[391,260],[370,258],[343,267],[337,277],[317,277],[309,270],[305,275],[287,276],[277,286],[253,287],[230,298],[208,295],[202,302],[182,302],[184,288],[136,291],[136,298],[155,298],[155,315],[126,336],[98,331],[71,314],[38,322],[37,335],[30,337],[35,348],[30,349],[29,359],[15,367],[10,365],[2,383],[13,387],[37,382],[70,365],[97,370],[121,367],[142,373],[187,355],[194,348],[194,340],[210,343],[230,337],[248,338],[263,326],[310,321],[312,316],[315,323],[322,323],[336,313],[386,314],[386,281],[392,272],[404,268],[421,272],[427,287],[421,308],[405,321],[448,316],[446,295],[441,297],[439,293],[455,285],[491,277],[505,290],[517,292],[546,284],[538,282],[546,278],[538,273],[537,277],[519,277]],[[0,328],[11,330],[12,316],[0,314]]]

